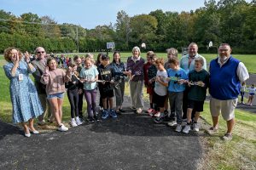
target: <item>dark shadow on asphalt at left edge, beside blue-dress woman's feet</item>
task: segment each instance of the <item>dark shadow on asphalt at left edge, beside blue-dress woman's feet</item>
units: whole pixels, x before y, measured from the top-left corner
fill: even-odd
[[[19,127],[0,121],[0,140],[2,140],[6,135],[12,134],[22,135],[22,131]]]

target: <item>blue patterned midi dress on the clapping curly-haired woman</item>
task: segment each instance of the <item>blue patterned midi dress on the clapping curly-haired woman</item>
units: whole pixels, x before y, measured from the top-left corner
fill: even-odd
[[[37,89],[29,77],[28,65],[24,60],[20,60],[15,76],[11,74],[14,63],[9,62],[3,65],[6,77],[10,80],[9,91],[13,104],[13,122],[27,122],[33,117],[43,114],[43,108],[38,99]]]

